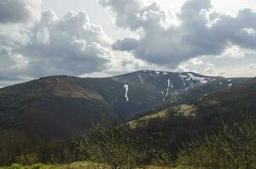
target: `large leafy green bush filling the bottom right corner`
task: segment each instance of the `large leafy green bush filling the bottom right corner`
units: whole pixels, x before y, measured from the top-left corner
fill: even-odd
[[[256,122],[243,117],[240,123],[223,124],[220,134],[195,140],[181,150],[181,165],[208,168],[256,168]]]

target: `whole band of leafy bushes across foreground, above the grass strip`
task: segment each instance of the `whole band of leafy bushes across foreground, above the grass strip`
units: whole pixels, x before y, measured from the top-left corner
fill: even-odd
[[[28,139],[18,132],[0,134],[0,163],[7,169],[47,168],[256,168],[256,122],[253,114],[237,110],[220,112],[215,119],[216,128],[207,134],[173,125],[171,120],[192,125],[192,119],[170,117],[148,122],[148,128],[133,128],[109,119],[93,123],[80,138],[72,140],[41,141]],[[161,124],[161,125],[159,125]],[[164,126],[164,124],[168,124]],[[178,123],[180,124],[180,123]],[[161,133],[156,132],[159,128]],[[180,131],[175,131],[181,128]],[[186,133],[190,132],[190,133]],[[182,140],[182,137],[186,138]],[[180,139],[175,139],[180,138]],[[192,139],[191,139],[192,138]],[[180,141],[180,142],[179,142]],[[75,162],[75,161],[92,161]],[[48,165],[36,164],[70,164]],[[75,162],[75,163],[72,163]],[[25,166],[13,165],[19,163]],[[104,164],[99,166],[96,164]],[[31,166],[26,166],[31,165]],[[159,166],[159,167],[157,167]],[[1,167],[0,167],[1,168]]]

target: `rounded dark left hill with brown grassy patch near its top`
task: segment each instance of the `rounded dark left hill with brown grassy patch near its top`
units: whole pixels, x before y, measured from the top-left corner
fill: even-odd
[[[0,127],[16,128],[43,138],[81,134],[102,114],[113,115],[97,92],[74,85],[76,78],[34,80],[0,91]]]

